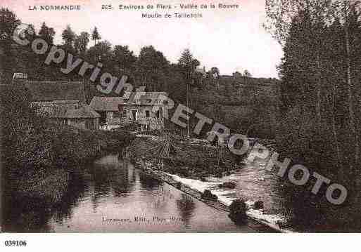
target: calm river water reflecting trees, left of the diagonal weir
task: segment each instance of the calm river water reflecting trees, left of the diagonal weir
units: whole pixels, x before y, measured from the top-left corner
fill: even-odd
[[[6,216],[3,232],[253,232],[227,213],[160,182],[118,155],[72,174],[60,204],[34,201]],[[16,212],[16,206],[11,206]]]

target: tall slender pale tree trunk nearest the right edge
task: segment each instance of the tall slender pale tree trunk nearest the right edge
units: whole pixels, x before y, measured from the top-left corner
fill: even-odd
[[[349,21],[348,21],[348,13],[347,7],[349,3],[345,1],[345,42],[346,42],[346,54],[347,54],[347,86],[348,86],[348,114],[350,116],[350,131],[355,138],[355,165],[357,165],[360,159],[360,144],[358,133],[356,131],[355,125],[355,112],[353,110],[353,88],[351,81],[351,58],[350,58],[350,34],[349,34]]]

